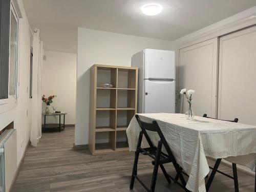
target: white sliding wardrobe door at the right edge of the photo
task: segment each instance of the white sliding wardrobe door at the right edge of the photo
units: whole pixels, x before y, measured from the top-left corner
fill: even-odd
[[[256,125],[256,27],[220,38],[218,117]]]

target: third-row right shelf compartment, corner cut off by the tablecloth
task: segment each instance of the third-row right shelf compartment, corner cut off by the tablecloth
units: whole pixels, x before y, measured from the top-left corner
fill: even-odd
[[[134,115],[135,110],[117,111],[116,130],[118,131],[126,129]]]

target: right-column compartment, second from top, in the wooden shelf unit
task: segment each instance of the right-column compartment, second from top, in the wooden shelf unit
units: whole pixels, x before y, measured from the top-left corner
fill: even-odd
[[[135,109],[135,90],[117,90],[117,108]]]

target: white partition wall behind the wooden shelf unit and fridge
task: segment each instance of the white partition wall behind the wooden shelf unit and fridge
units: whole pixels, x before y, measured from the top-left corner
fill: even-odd
[[[75,145],[88,144],[90,67],[95,63],[131,66],[132,55],[145,49],[173,50],[167,40],[78,28]]]

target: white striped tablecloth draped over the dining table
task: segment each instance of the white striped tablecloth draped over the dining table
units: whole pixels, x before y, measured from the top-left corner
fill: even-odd
[[[206,191],[205,176],[209,173],[206,157],[226,158],[245,165],[255,172],[256,126],[195,116],[187,120],[184,114],[139,114],[145,122],[156,120],[176,161],[189,175],[186,188]],[[130,151],[136,151],[140,127],[135,117],[127,128]],[[147,132],[157,146],[157,133]],[[142,146],[147,146],[144,138]]]

